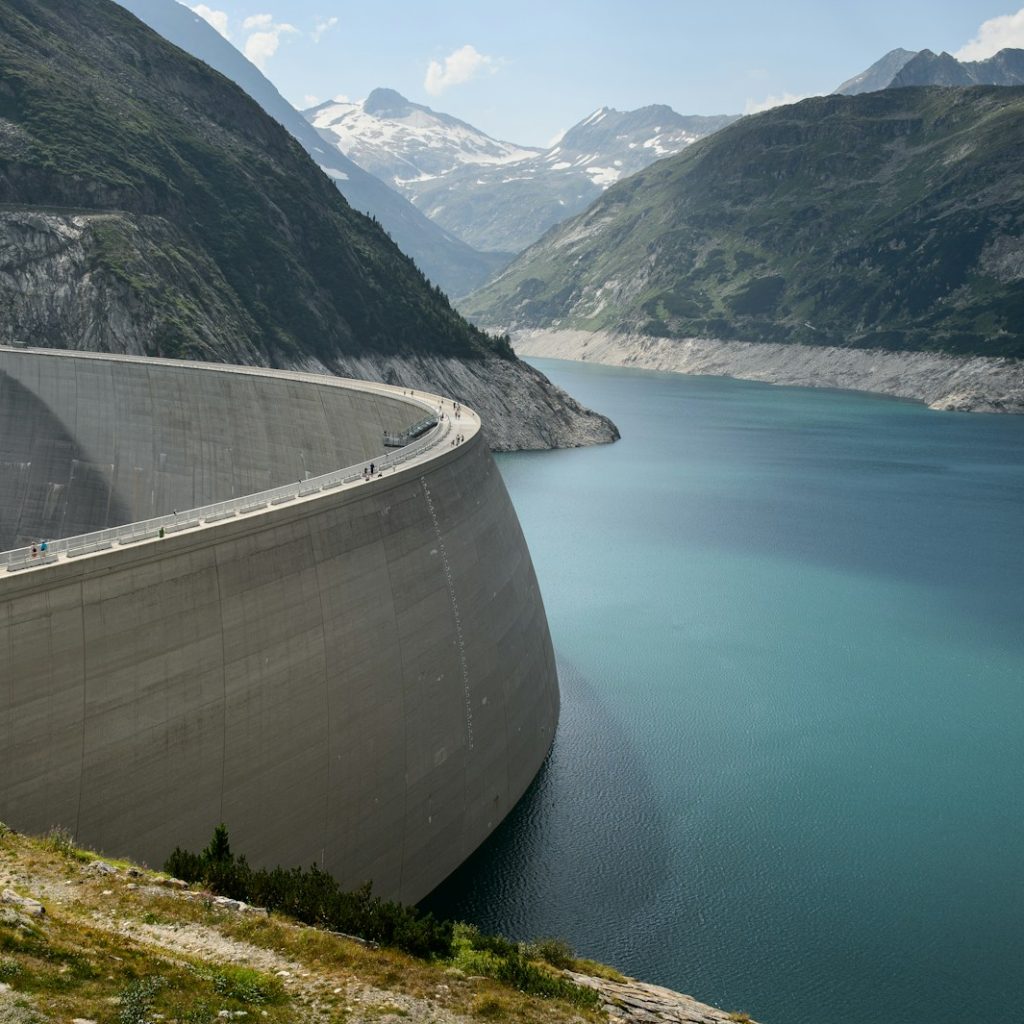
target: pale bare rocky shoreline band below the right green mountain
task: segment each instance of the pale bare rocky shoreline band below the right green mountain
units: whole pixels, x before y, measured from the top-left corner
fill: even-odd
[[[937,410],[1024,413],[1019,359],[588,331],[519,331],[512,344],[520,356],[871,391]]]

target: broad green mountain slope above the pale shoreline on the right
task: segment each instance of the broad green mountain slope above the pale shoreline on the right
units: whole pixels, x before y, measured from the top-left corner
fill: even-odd
[[[1024,356],[1024,89],[778,108],[609,188],[463,304],[503,329]]]

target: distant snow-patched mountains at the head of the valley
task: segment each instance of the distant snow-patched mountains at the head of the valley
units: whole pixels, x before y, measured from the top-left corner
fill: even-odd
[[[324,103],[306,117],[435,223],[495,253],[520,251],[609,184],[735,120],[683,117],[665,105],[602,108],[542,151],[490,138],[391,89],[361,103]]]

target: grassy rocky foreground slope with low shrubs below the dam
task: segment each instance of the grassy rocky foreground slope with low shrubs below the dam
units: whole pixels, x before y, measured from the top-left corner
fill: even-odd
[[[268,879],[294,892],[302,874]],[[308,896],[330,896],[324,878]],[[3,1024],[750,1021],[577,959],[556,940],[514,943],[465,925],[447,935],[443,951],[414,955],[399,948],[408,943],[302,925],[216,887],[101,859],[60,831],[34,839],[0,823]]]

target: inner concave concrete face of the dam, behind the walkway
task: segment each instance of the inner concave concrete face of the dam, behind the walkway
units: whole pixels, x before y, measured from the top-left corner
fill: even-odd
[[[423,416],[285,375],[0,349],[0,551],[369,460]]]

